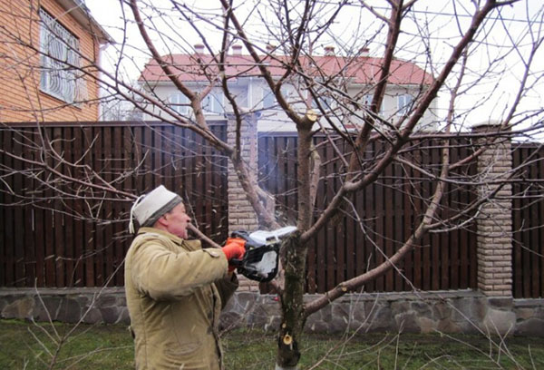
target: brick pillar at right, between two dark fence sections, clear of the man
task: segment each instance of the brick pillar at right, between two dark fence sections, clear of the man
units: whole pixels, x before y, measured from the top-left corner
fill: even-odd
[[[474,133],[497,132],[498,126],[484,123],[474,127]],[[481,143],[487,138],[484,136]],[[500,138],[478,158],[481,174],[479,197],[497,190],[512,170],[510,140]],[[483,204],[476,219],[478,228],[478,289],[488,297],[512,296],[512,219],[510,184],[505,184],[490,201]]]

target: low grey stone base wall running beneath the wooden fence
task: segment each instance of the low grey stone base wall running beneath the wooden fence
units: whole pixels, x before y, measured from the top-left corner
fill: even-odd
[[[316,297],[307,295],[306,300]],[[0,316],[67,323],[128,325],[130,321],[120,287],[3,288]],[[238,292],[223,311],[221,326],[276,330],[280,317],[275,296]],[[306,330],[544,336],[544,299],[491,298],[471,290],[351,294],[309,316]]]

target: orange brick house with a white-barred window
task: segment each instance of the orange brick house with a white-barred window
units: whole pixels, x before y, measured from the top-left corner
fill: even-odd
[[[98,120],[93,65],[112,38],[83,0],[2,0],[0,24],[0,122]]]

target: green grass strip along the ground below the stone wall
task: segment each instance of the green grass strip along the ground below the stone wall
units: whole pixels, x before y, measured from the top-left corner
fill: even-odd
[[[55,332],[64,336],[73,326],[0,320],[0,368],[47,369],[54,355]],[[540,369],[544,338],[500,338],[491,346],[484,336],[306,335],[301,369]],[[223,335],[228,369],[274,367],[275,336],[260,331]],[[507,355],[510,354],[510,355]],[[125,326],[81,326],[63,343],[55,369],[133,369],[133,346]]]

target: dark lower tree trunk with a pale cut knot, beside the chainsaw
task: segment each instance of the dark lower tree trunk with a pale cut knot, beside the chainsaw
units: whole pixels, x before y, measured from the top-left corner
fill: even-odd
[[[304,284],[307,248],[300,235],[287,239],[284,245],[285,289],[281,299],[282,323],[277,337],[277,369],[296,369],[300,359],[298,339],[305,325]]]

